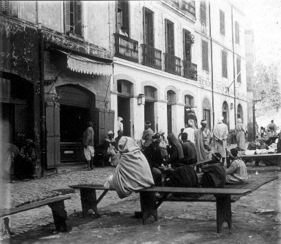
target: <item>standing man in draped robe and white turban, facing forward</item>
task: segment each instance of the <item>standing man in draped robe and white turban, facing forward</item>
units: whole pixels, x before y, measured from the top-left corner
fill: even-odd
[[[197,162],[211,159],[210,130],[206,128],[207,121],[201,121],[201,128],[195,131],[195,148],[197,152]],[[209,142],[209,143],[208,143]]]

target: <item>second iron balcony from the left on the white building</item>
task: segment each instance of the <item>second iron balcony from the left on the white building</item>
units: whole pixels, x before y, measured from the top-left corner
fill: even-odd
[[[153,67],[155,69],[162,69],[162,53],[161,50],[142,44],[142,64]]]

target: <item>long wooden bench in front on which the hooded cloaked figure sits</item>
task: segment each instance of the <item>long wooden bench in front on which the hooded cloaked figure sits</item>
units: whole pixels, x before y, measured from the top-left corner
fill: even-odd
[[[74,185],[71,188],[80,190],[80,198],[82,205],[83,217],[87,216],[87,212],[92,209],[98,215],[98,204],[109,190],[102,185],[84,184]],[[98,197],[96,190],[103,191]],[[231,195],[247,195],[251,193],[249,189],[233,189],[233,188],[181,188],[181,187],[163,187],[155,186],[151,188],[144,188],[138,191],[140,198],[140,205],[142,210],[142,223],[145,225],[148,217],[153,216],[157,221],[157,208],[163,202],[201,202],[200,199],[186,199],[184,197],[167,197],[169,193],[186,193],[196,195],[214,195],[215,200],[204,200],[204,202],[216,202],[216,228],[217,232],[221,232],[221,226],[226,221],[228,227],[232,227],[232,208]],[[157,198],[155,193],[164,193],[164,197]]]

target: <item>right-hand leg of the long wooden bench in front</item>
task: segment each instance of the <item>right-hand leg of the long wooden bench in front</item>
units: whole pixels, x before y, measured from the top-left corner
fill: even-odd
[[[216,232],[221,232],[221,226],[226,221],[232,228],[232,204],[230,195],[216,195]]]

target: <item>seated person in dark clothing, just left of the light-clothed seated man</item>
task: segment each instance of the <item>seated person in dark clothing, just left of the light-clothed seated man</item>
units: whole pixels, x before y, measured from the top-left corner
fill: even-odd
[[[212,162],[202,167],[202,187],[223,188],[225,186],[225,167],[221,162],[221,154],[212,154]]]

